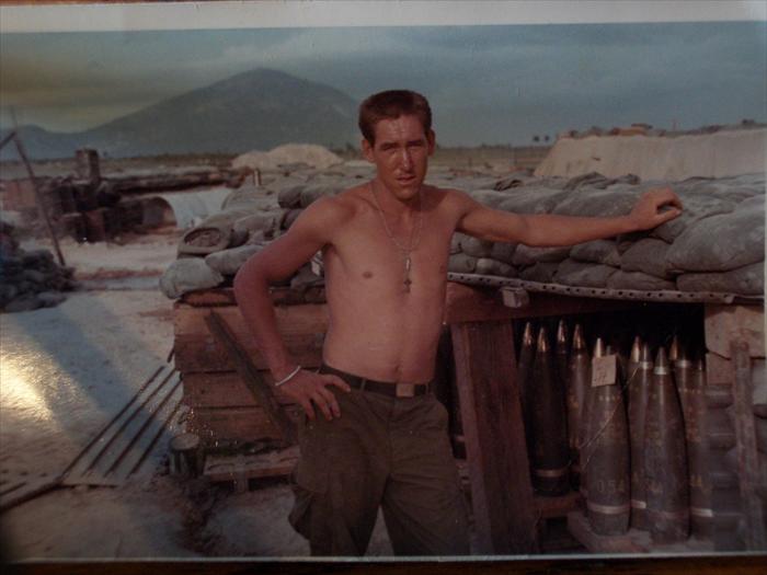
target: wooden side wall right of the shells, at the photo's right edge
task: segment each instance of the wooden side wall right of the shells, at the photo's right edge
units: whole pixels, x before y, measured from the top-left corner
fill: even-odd
[[[706,428],[717,551],[767,549],[764,321],[762,306],[706,307]]]

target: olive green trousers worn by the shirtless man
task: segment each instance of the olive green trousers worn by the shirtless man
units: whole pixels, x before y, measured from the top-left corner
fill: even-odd
[[[364,555],[384,511],[396,555],[468,555],[466,502],[433,393],[335,394],[341,417],[319,413],[299,430],[289,520],[312,555]]]

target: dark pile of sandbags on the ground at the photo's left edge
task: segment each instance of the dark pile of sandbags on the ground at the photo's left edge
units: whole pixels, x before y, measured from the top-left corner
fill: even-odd
[[[61,291],[76,288],[73,269],[54,262],[47,250],[19,246],[13,226],[0,220],[0,310],[31,311],[50,308],[66,299]]]

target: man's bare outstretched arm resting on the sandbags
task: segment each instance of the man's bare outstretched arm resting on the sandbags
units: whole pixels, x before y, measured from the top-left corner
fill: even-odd
[[[494,242],[536,246],[573,245],[619,233],[649,230],[682,214],[682,202],[671,188],[645,192],[630,214],[584,218],[549,214],[513,214],[490,209],[468,196],[458,231]]]

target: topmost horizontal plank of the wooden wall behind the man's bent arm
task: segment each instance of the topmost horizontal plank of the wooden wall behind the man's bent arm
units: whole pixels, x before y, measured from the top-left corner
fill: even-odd
[[[196,335],[207,331],[205,317],[210,312],[206,308],[194,308],[179,303],[173,310],[173,330],[176,336]],[[216,309],[216,313],[227,324],[243,344],[252,340],[252,335],[240,309],[225,306]],[[275,308],[277,331],[283,336],[323,334],[328,331],[328,307],[322,303],[306,303],[301,306],[277,306]]]

